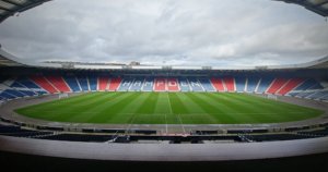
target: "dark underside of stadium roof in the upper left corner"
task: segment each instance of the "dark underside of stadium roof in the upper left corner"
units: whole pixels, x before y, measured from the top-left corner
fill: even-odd
[[[35,8],[50,0],[0,0],[0,23],[9,16]]]

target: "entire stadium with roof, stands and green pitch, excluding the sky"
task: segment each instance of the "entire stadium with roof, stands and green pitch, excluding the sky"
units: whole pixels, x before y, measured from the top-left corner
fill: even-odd
[[[328,15],[326,0],[283,1]],[[1,0],[0,22],[45,2]],[[327,170],[328,57],[222,67],[31,62],[0,48],[10,168]]]

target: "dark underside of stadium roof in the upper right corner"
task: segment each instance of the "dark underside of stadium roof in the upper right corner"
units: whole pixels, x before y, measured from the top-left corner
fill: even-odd
[[[319,15],[328,16],[328,0],[277,0],[286,3],[295,3]]]

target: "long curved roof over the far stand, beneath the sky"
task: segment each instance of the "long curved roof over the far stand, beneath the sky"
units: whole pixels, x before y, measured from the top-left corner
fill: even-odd
[[[176,65],[114,65],[97,63],[72,63],[72,62],[32,62],[7,52],[0,47],[0,67],[1,66],[35,66],[50,69],[80,69],[80,70],[290,70],[290,69],[328,69],[328,56],[307,63],[286,64],[286,65],[259,65],[259,66],[176,66]]]

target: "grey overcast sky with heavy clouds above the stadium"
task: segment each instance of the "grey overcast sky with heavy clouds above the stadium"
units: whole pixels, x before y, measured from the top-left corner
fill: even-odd
[[[328,54],[328,23],[271,0],[55,0],[0,24],[22,59],[273,65]]]

